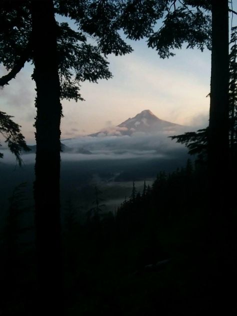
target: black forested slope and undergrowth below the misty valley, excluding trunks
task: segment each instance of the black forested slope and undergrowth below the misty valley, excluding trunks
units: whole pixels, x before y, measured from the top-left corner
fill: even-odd
[[[9,199],[1,238],[3,315],[33,315],[37,307],[32,208],[25,206],[23,189]],[[206,193],[205,162],[188,160],[184,168],[157,174],[152,186],[144,182],[142,192],[133,183],[114,213],[103,213],[97,188],[94,207],[85,213],[68,201],[62,223],[65,314],[236,314],[233,290],[222,288],[230,270],[228,283],[236,280],[234,255],[229,271],[219,265]],[[236,228],[234,220],[233,241]]]

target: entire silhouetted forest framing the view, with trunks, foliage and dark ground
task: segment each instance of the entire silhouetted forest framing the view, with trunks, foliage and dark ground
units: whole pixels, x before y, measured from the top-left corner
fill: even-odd
[[[36,87],[33,202],[27,183],[1,197],[1,315],[236,314],[236,15],[228,0],[0,1],[0,94],[27,62]],[[143,38],[157,58],[211,51],[208,126],[169,136],[186,163],[133,180],[113,211],[99,185],[89,209],[62,203],[61,101],[83,100],[82,82],[111,78],[106,57]],[[21,166],[30,148],[1,110],[0,134]]]

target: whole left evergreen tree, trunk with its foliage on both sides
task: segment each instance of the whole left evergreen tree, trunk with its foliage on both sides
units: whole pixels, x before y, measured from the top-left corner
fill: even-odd
[[[62,0],[0,2],[0,62],[9,70],[0,78],[0,85],[8,84],[25,62],[33,61],[34,65],[32,78],[37,92],[34,198],[38,289],[42,302],[39,313],[46,310],[46,306],[49,313],[63,313],[56,303],[62,301],[60,99],[82,99],[80,81],[95,82],[111,77],[105,54],[131,51],[117,32],[117,11],[113,3],[107,4]],[[67,23],[56,22],[55,13],[72,18],[78,31],[73,31]],[[87,43],[86,33],[96,37],[97,45]],[[52,292],[56,301],[51,297]]]

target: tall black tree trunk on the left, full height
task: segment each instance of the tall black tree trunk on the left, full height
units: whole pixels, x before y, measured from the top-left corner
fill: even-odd
[[[60,246],[60,83],[52,0],[32,0],[36,83],[35,229],[39,314],[62,315]]]

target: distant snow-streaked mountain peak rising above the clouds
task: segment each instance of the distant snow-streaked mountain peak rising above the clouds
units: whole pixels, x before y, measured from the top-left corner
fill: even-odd
[[[103,128],[89,136],[131,135],[134,132],[168,131],[178,129],[178,127],[181,127],[181,125],[160,119],[149,109],[145,109],[117,126]]]

